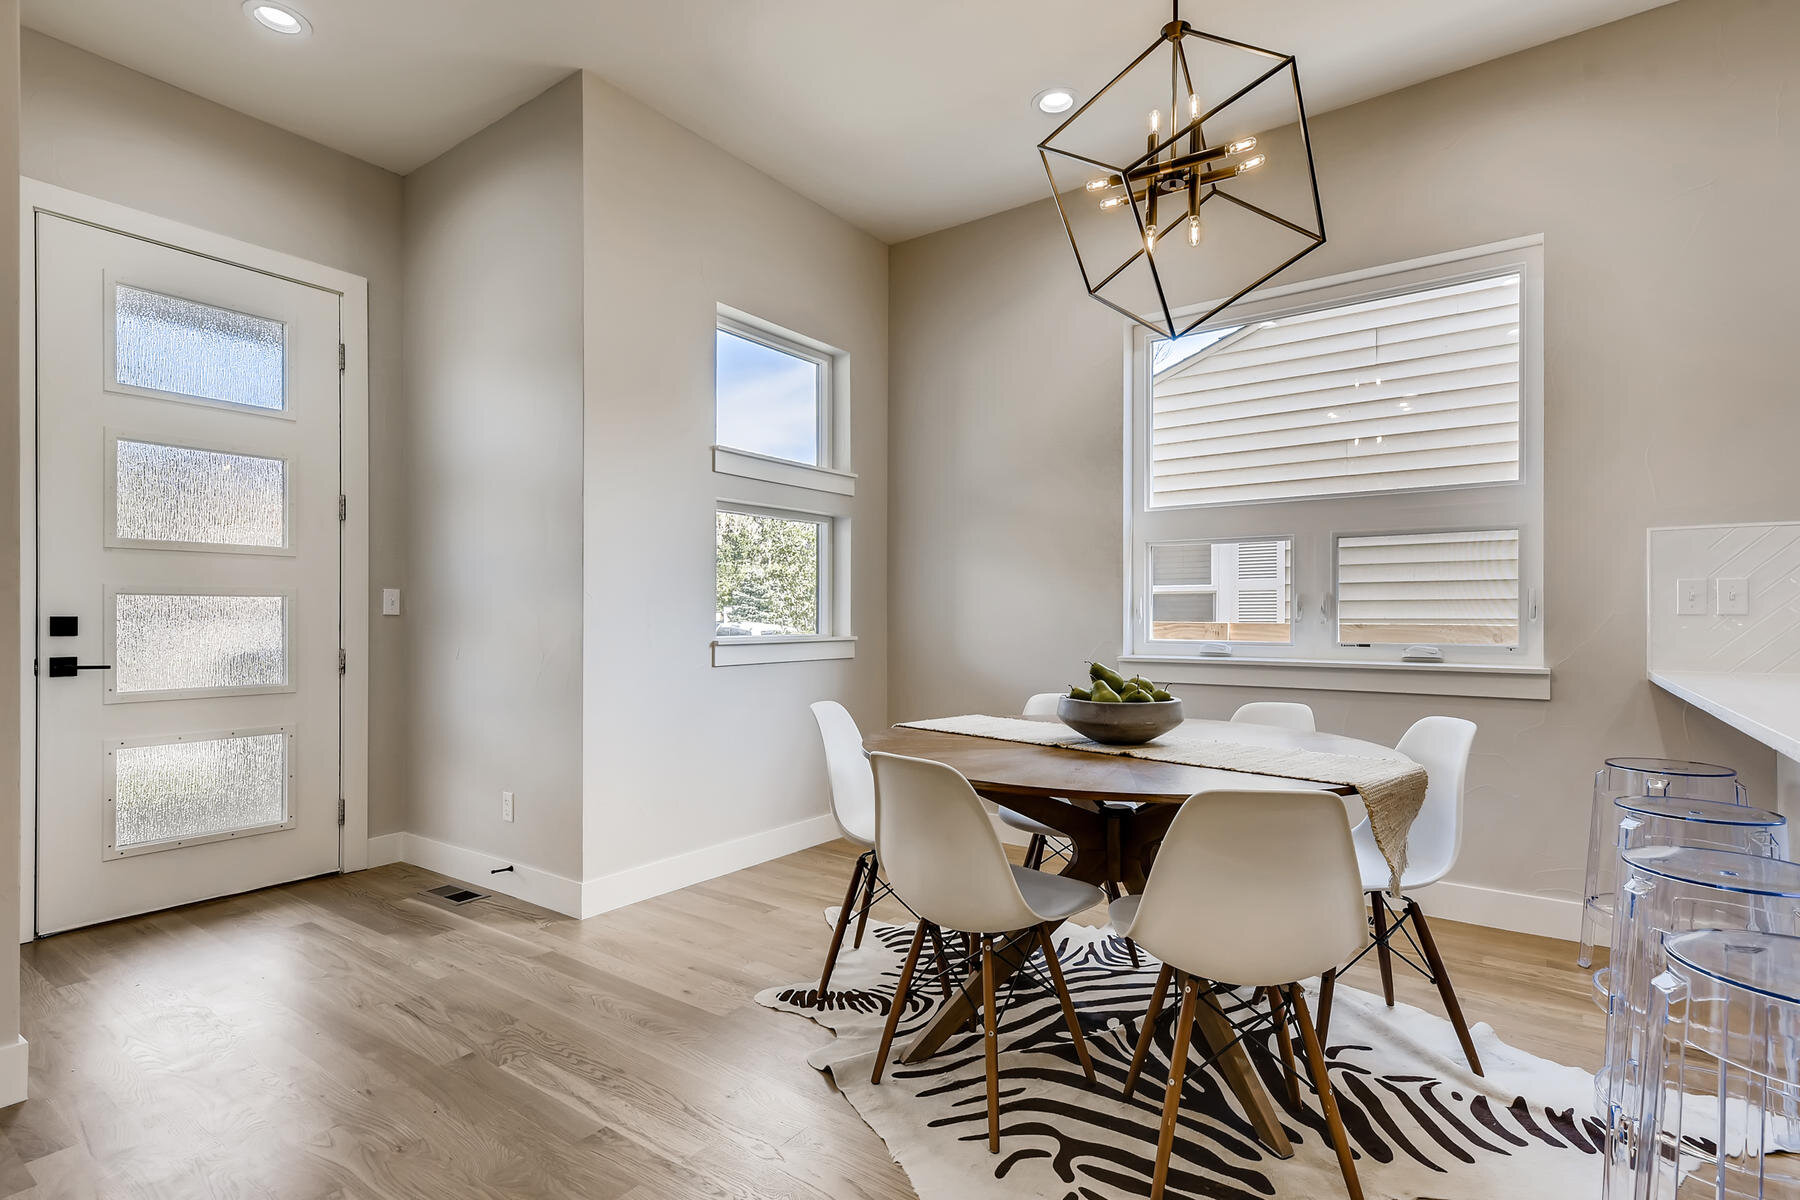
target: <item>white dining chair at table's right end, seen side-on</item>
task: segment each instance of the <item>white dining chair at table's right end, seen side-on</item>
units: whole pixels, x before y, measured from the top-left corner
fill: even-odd
[[[1469,775],[1469,750],[1474,745],[1474,721],[1458,716],[1426,716],[1413,723],[1395,743],[1395,750],[1426,768],[1426,802],[1413,819],[1413,829],[1406,837],[1406,873],[1400,876],[1400,896],[1388,896],[1393,873],[1388,860],[1375,846],[1375,835],[1364,820],[1355,828],[1355,856],[1363,871],[1363,891],[1368,892],[1372,916],[1372,946],[1375,964],[1381,968],[1381,991],[1388,1007],[1393,1007],[1393,959],[1417,970],[1438,988],[1444,1011],[1456,1027],[1456,1040],[1462,1042],[1463,1058],[1469,1070],[1481,1074],[1481,1058],[1474,1051],[1469,1036],[1469,1022],[1463,1020],[1462,1004],[1456,1002],[1456,988],[1451,986],[1444,955],[1431,937],[1431,925],[1424,909],[1413,900],[1413,892],[1442,880],[1456,865],[1462,853],[1463,829],[1463,784]],[[1393,900],[1400,907],[1393,907]],[[1418,930],[1415,939],[1406,932],[1408,925]],[[1408,945],[1426,961],[1418,966],[1393,948],[1395,936],[1404,936]],[[1364,948],[1363,954],[1368,950]],[[1357,955],[1361,957],[1361,954]],[[1330,1027],[1330,999],[1319,1002],[1319,1029]]]

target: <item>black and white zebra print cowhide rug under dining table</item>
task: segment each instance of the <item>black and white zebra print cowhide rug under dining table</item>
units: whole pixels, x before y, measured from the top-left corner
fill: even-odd
[[[835,916],[835,910],[826,918]],[[907,1031],[941,1002],[931,954],[902,1018],[880,1085],[869,1083],[882,1022],[893,1004],[913,927],[871,925],[860,950],[844,946],[826,1007],[815,984],[770,988],[758,1002],[808,1016],[837,1038],[810,1058],[830,1070],[864,1121],[887,1142],[922,1200],[1125,1200],[1145,1196],[1156,1162],[1175,1006],[1129,1101],[1120,1096],[1157,964],[1132,970],[1109,930],[1066,925],[1058,934],[1098,1085],[1075,1058],[1055,995],[1028,972],[1001,999],[1001,1151],[986,1148],[981,1034],[952,1036],[929,1061],[895,1061]],[[1042,959],[1037,961],[1042,968]],[[1242,1006],[1242,999],[1238,1000]],[[1228,1013],[1231,1006],[1228,1004]],[[1242,1018],[1246,1011],[1231,1013]],[[1474,1027],[1487,1078],[1463,1063],[1449,1022],[1415,1007],[1337,988],[1330,1074],[1370,1200],[1521,1200],[1595,1196],[1604,1135],[1593,1076],[1534,1058]],[[1273,1031],[1246,1042],[1294,1144],[1276,1159],[1256,1141],[1224,1079],[1190,1060],[1166,1196],[1193,1200],[1332,1198],[1343,1177],[1310,1085],[1289,1106]],[[1199,1051],[1197,1051],[1199,1054]],[[1301,1067],[1305,1070],[1305,1067]]]

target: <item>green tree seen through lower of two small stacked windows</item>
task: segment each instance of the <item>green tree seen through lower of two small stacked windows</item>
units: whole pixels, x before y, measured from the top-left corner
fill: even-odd
[[[819,525],[718,515],[718,621],[819,631]]]

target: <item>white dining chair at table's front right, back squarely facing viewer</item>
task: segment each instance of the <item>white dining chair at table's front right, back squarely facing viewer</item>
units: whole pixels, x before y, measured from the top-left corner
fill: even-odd
[[[1305,864],[1307,869],[1271,871],[1271,846],[1282,847],[1285,862]],[[1116,900],[1109,918],[1118,932],[1163,961],[1125,1076],[1127,1099],[1150,1051],[1163,993],[1172,975],[1179,979],[1181,1015],[1163,1094],[1150,1200],[1161,1200],[1168,1182],[1195,1020],[1211,1034],[1208,1042],[1213,1045],[1228,1045],[1253,1031],[1242,1022],[1233,1029],[1213,995],[1215,982],[1256,988],[1267,995],[1267,1020],[1276,1027],[1289,1097],[1298,1105],[1298,1069],[1287,1024],[1292,1015],[1345,1187],[1354,1200],[1361,1200],[1363,1187],[1325,1069],[1323,1042],[1298,982],[1314,975],[1330,982],[1337,964],[1354,955],[1366,937],[1363,880],[1343,801],[1332,792],[1310,790],[1201,792],[1170,822],[1143,894]],[[1265,1027],[1264,1020],[1258,1013],[1256,1027]]]

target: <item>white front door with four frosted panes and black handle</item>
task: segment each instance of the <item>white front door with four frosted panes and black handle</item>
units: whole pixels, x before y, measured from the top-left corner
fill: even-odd
[[[36,216],[38,932],[338,867],[338,300]]]

